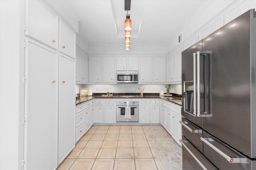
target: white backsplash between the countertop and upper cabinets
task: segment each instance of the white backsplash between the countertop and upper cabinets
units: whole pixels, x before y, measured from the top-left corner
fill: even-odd
[[[144,88],[144,93],[159,93],[161,90],[166,93],[165,84],[76,84],[76,93],[79,88],[89,88],[93,93],[140,93],[138,88]],[[181,84],[172,84],[170,93],[181,94]]]

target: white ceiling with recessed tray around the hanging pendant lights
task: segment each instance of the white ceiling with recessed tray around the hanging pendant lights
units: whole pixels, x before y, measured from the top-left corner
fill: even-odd
[[[131,44],[169,44],[205,0],[131,0]],[[68,0],[87,44],[124,44],[124,0]]]

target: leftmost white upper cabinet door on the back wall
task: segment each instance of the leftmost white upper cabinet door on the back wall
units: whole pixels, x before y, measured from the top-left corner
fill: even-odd
[[[101,58],[100,56],[89,56],[89,82],[101,82]]]

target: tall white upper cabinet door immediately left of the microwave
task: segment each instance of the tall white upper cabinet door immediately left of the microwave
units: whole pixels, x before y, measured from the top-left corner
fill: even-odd
[[[115,57],[102,57],[102,81],[115,82]]]

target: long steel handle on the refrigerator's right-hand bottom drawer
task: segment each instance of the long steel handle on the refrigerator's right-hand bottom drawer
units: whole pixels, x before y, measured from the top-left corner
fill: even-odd
[[[250,163],[250,161],[248,162],[246,158],[239,158],[238,156],[228,156],[227,154],[225,154],[224,152],[222,152],[220,149],[218,149],[217,147],[215,147],[214,145],[212,145],[212,143],[210,143],[210,141],[214,141],[213,138],[211,137],[200,137],[201,141],[203,141],[206,145],[208,145],[209,147],[211,147],[213,150],[215,150],[216,152],[218,152],[218,154],[220,154],[222,157],[224,157],[229,163]]]

